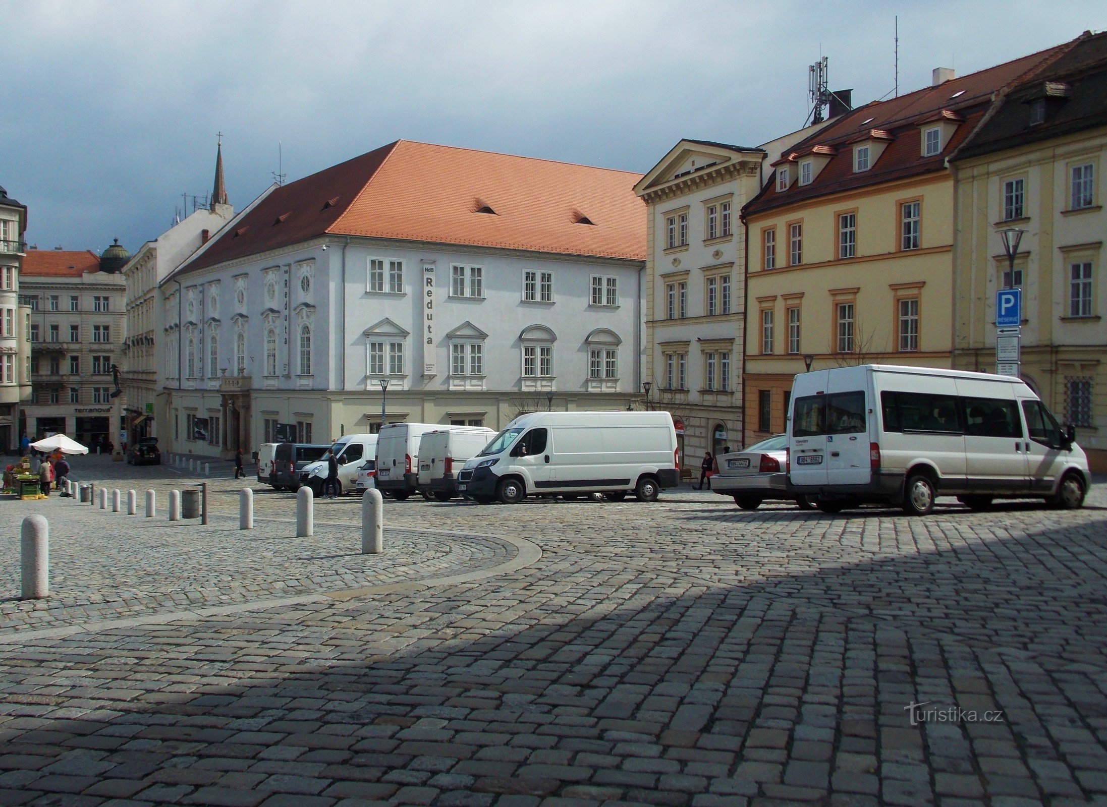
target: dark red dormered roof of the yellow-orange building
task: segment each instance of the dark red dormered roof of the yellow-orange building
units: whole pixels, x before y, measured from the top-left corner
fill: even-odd
[[[1070,42],[1056,45],[994,68],[951,79],[938,86],[917,90],[890,101],[872,102],[841,115],[806,141],[797,143],[788,153],[800,156],[811,153],[817,146],[837,148],[838,153],[829,159],[815,180],[800,186],[793,179],[786,190],[778,192],[773,176],[743,208],[743,215],[756,215],[827,194],[944,170],[945,158],[980,123],[991,104],[993,93],[1025,81],[1070,46]],[[958,123],[962,120],[963,123]],[[958,127],[943,145],[941,154],[923,157],[920,126],[933,121],[958,123]],[[872,135],[880,139],[891,135],[893,139],[868,170],[853,173],[853,149],[845,146]],[[788,162],[785,159],[788,154],[773,165]]]

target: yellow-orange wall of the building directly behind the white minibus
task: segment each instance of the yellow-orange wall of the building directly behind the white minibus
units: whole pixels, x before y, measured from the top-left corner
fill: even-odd
[[[919,248],[900,249],[900,207],[921,203]],[[838,216],[853,211],[853,258],[839,259]],[[803,262],[788,266],[789,225],[803,225]],[[953,182],[948,173],[884,183],[749,216],[746,442],[757,431],[759,389],[774,390],[773,428],[783,427],[782,379],[805,370],[858,363],[949,368],[952,333]],[[776,266],[764,268],[764,230],[776,229]],[[898,301],[919,299],[918,350],[901,351]],[[836,307],[855,306],[855,350],[837,345]],[[788,308],[800,310],[800,343],[789,354]],[[774,311],[773,353],[762,350],[762,311]],[[780,399],[779,401],[777,399]],[[777,422],[777,412],[782,413]]]

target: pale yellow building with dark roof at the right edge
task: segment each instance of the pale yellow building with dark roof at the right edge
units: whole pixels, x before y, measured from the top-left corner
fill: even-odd
[[[951,159],[953,364],[995,371],[995,292],[1022,289],[1020,374],[1107,472],[1107,34],[1085,34],[996,101]],[[1012,271],[1002,231],[1018,230]]]

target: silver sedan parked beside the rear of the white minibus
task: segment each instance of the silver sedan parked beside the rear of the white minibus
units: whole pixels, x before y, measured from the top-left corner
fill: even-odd
[[[795,501],[801,510],[814,508],[806,496],[788,484],[788,437],[777,434],[745,451],[715,457],[716,473],[711,489],[733,496],[743,510],[756,510],[763,501]]]

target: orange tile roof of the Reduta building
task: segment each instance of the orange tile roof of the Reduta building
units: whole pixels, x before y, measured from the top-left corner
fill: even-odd
[[[323,235],[645,260],[640,178],[396,141],[273,189],[186,270]],[[592,224],[578,224],[582,217]]]

